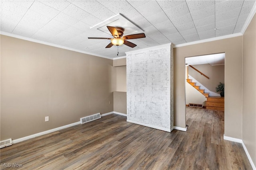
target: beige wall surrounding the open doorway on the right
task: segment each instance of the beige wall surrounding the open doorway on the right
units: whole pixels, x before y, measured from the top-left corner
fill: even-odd
[[[225,132],[242,139],[242,36],[174,48],[174,126],[186,127],[185,57],[226,53]]]

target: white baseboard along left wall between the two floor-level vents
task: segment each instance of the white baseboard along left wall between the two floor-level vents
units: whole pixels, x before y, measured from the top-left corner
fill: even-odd
[[[22,137],[22,138],[19,138],[19,139],[14,139],[12,141],[12,143],[18,143],[18,142],[22,142],[22,141],[26,141],[28,139],[32,139],[34,137],[38,137],[38,136],[42,136],[42,135],[45,135],[45,134],[48,134],[48,133],[52,133],[52,132],[55,132],[55,131],[58,131],[58,130],[61,130],[61,129],[65,129],[67,127],[72,127],[74,125],[79,125],[80,124],[80,121],[78,122],[75,122],[75,123],[71,123],[69,125],[64,125],[64,126],[61,126],[61,127],[57,127],[57,128],[54,128],[54,129],[50,129],[48,131],[43,131],[43,132],[40,132],[40,133],[36,133],[34,135],[29,135],[29,136],[26,136],[26,137]]]

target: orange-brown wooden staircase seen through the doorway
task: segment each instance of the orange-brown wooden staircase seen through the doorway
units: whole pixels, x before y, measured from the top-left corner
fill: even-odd
[[[224,111],[224,97],[209,96],[209,93],[205,93],[204,89],[200,89],[200,86],[196,86],[196,83],[192,82],[192,79],[186,80],[191,86],[193,86],[206,97],[206,109]]]

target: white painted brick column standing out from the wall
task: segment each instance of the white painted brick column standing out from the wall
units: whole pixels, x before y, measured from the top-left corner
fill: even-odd
[[[126,78],[127,121],[172,131],[172,45],[126,53]]]

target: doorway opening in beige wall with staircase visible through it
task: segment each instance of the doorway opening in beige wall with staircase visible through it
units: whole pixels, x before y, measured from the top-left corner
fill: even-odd
[[[214,131],[219,129],[218,133],[223,135],[224,97],[220,96],[220,92],[216,92],[216,87],[220,82],[223,84],[225,82],[225,53],[186,57],[185,63],[186,125],[188,129],[193,131],[202,126],[210,126],[208,129],[213,128]],[[220,140],[219,135],[214,139]]]

